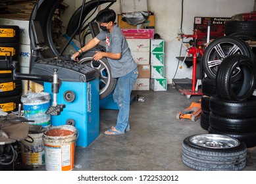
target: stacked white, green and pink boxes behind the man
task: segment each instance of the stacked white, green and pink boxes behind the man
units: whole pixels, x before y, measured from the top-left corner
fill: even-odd
[[[132,90],[166,91],[164,40],[154,39],[155,15],[149,14],[143,24],[134,26],[125,22],[122,14],[118,14],[118,26],[138,64],[139,76]]]

